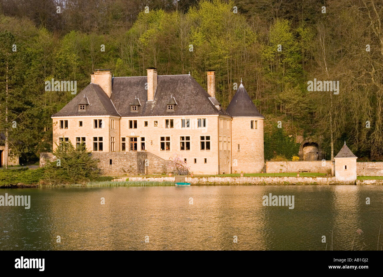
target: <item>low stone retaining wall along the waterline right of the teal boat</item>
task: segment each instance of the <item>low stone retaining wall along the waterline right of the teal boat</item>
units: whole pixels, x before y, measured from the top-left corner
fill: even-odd
[[[193,185],[350,185],[335,177],[185,177]]]

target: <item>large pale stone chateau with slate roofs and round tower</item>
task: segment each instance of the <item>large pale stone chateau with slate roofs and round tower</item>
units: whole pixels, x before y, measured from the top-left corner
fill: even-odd
[[[194,174],[257,173],[264,167],[264,116],[243,84],[227,109],[189,75],[112,77],[96,70],[90,84],[52,115],[53,148],[85,143],[108,174],[169,172],[177,153]]]

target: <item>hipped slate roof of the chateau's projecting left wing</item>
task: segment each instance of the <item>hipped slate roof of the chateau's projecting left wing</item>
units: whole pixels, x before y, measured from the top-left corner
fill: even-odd
[[[83,101],[84,96],[87,98],[88,105],[86,111],[79,111],[79,103]],[[52,117],[65,116],[83,116],[83,115],[115,115],[119,116],[115,106],[109,99],[108,95],[101,89],[98,84],[90,83],[81,93],[75,96],[68,104]]]

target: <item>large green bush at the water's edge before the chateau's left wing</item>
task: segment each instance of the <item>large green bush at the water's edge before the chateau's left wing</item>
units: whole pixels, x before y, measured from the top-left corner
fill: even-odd
[[[95,180],[100,173],[98,160],[92,158],[85,144],[74,147],[70,141],[64,141],[53,154],[57,160],[45,167],[43,180],[46,183],[85,183]]]

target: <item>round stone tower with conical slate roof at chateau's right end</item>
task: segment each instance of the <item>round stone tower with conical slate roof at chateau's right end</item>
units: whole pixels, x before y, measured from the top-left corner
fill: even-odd
[[[226,109],[232,116],[232,172],[259,173],[264,167],[264,119],[242,82]]]

